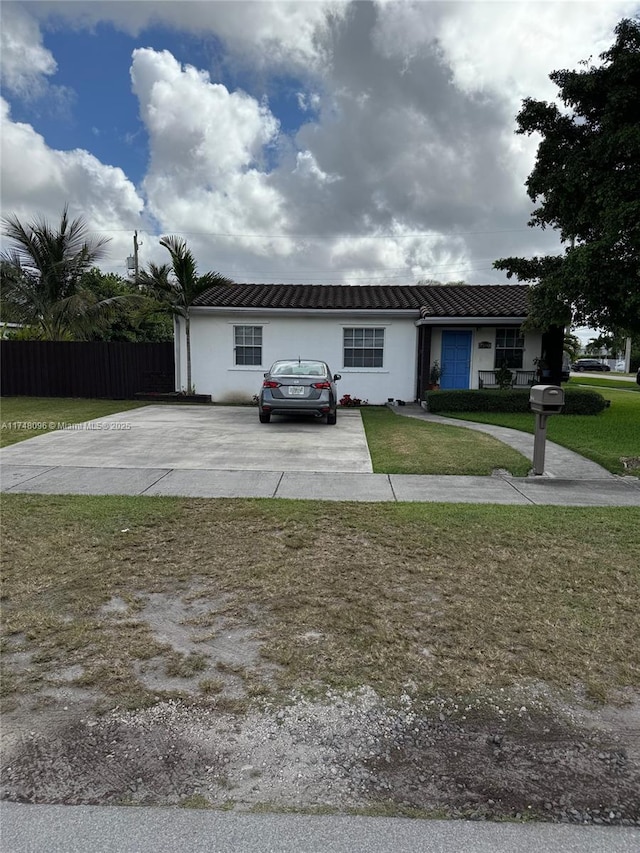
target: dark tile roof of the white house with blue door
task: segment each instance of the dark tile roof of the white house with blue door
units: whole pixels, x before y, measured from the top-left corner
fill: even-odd
[[[524,317],[528,286],[233,284],[216,285],[193,301],[212,308],[413,310],[427,317]]]

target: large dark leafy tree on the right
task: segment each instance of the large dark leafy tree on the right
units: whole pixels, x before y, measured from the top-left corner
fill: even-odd
[[[558,229],[564,254],[500,258],[533,283],[530,322],[640,331],[640,20],[623,20],[600,66],[554,71],[567,109],[526,99],[517,133],[539,133],[526,182],[529,225]],[[587,63],[584,63],[585,65]]]

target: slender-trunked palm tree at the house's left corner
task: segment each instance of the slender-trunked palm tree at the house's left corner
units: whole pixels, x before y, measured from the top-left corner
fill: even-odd
[[[179,237],[163,237],[160,245],[169,252],[170,264],[149,264],[147,270],[140,273],[138,284],[174,317],[182,317],[187,349],[187,394],[193,394],[191,383],[191,303],[217,284],[233,284],[217,272],[198,275],[193,253],[187,248],[185,240]]]

